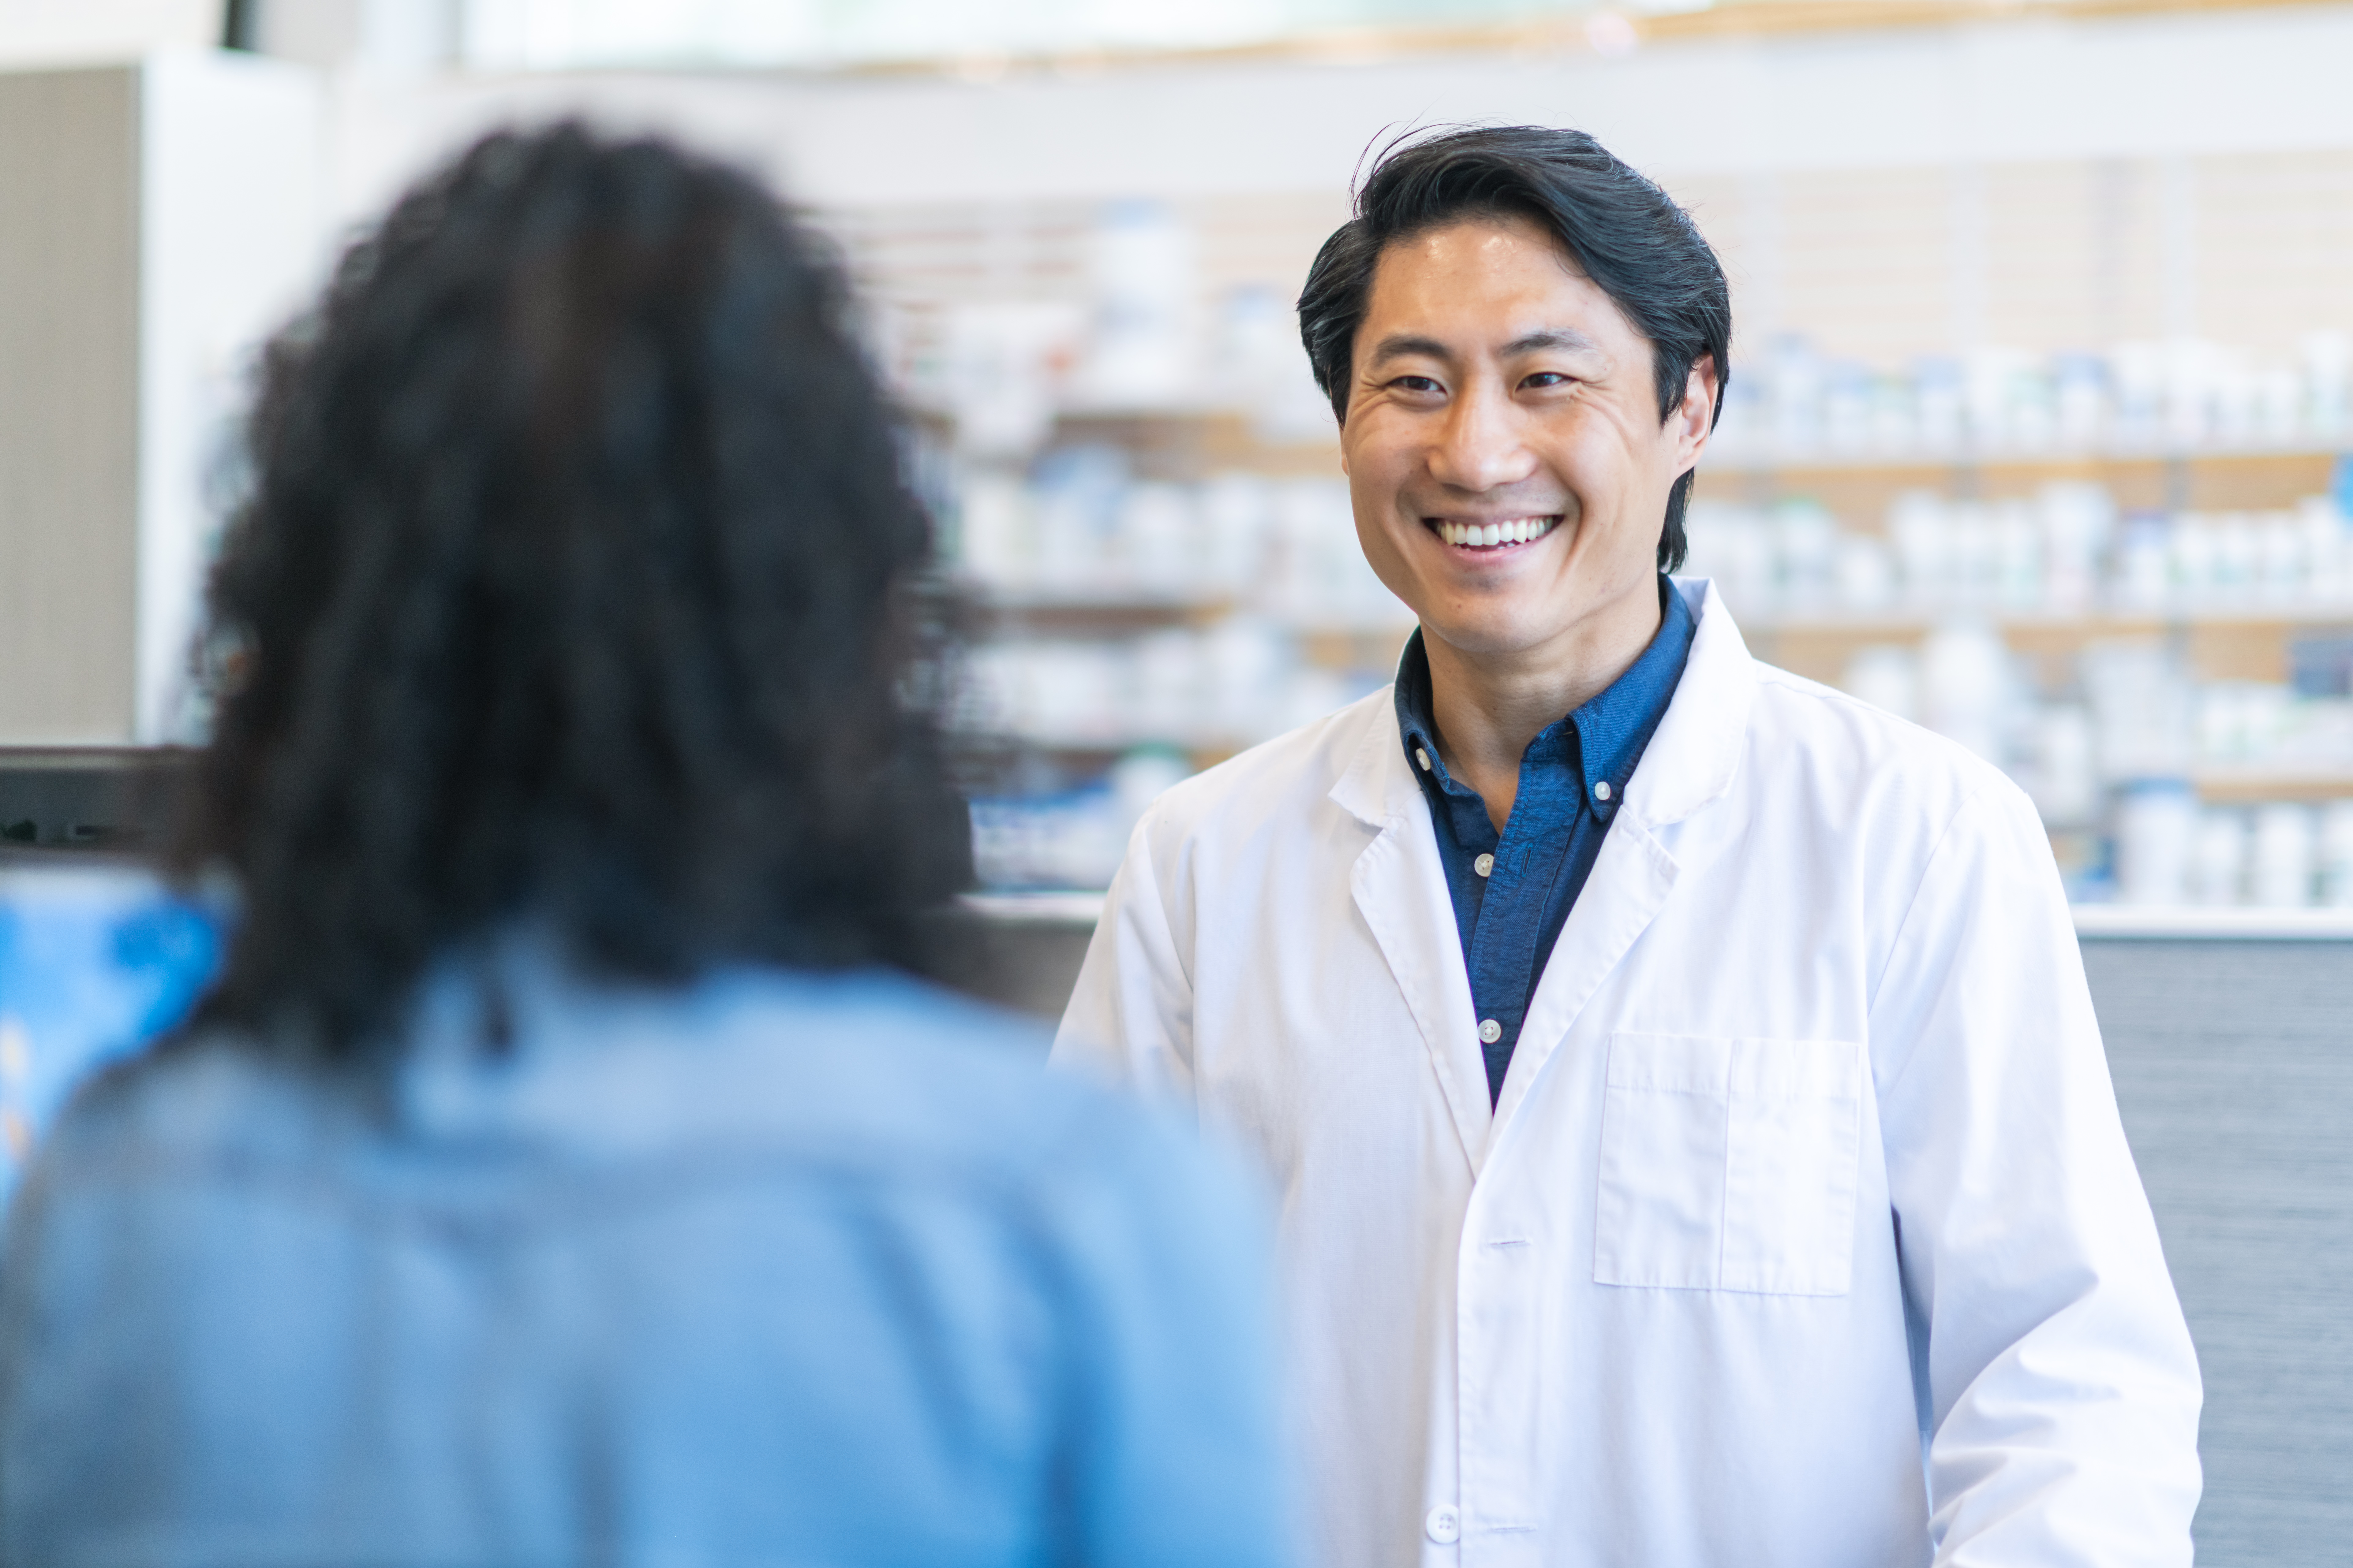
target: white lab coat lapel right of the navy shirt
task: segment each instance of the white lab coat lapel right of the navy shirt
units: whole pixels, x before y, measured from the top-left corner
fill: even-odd
[[[1593,872],[1560,926],[1553,957],[1529,999],[1527,1023],[1520,1027],[1520,1044],[1511,1053],[1504,1095],[1494,1112],[1497,1133],[1527,1098],[1537,1074],[1586,1011],[1586,1001],[1649,929],[1673,891],[1682,865],[1659,842],[1654,827],[1680,823],[1708,802],[1722,799],[1739,769],[1748,710],[1755,701],[1748,646],[1715,597],[1713,583],[1675,588],[1699,618],[1692,654],[1659,731],[1626,780],[1626,804],[1593,858]]]

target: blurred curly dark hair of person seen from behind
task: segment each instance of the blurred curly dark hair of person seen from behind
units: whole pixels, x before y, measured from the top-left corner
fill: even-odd
[[[918,966],[969,884],[932,527],[831,252],[659,139],[494,134],[264,357],[181,875],[200,1023],[346,1056],[534,922],[600,971]]]

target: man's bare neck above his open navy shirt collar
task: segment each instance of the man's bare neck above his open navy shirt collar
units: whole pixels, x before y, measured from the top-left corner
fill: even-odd
[[[1534,649],[1473,654],[1421,628],[1438,750],[1447,773],[1487,802],[1497,832],[1520,795],[1527,743],[1607,691],[1657,635],[1657,578]]]

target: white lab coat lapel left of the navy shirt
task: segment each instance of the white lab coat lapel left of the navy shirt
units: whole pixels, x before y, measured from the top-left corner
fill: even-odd
[[[1464,1161],[1478,1173],[1492,1121],[1487,1063],[1478,1048],[1478,1011],[1471,1004],[1461,931],[1454,926],[1454,896],[1438,860],[1431,806],[1407,771],[1395,710],[1369,726],[1355,762],[1332,788],[1332,802],[1379,827],[1355,858],[1348,891],[1421,1030],[1438,1088],[1464,1143]]]

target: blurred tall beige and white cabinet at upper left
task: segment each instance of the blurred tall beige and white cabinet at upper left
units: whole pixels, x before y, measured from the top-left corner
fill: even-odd
[[[191,729],[212,477],[259,341],[320,273],[299,66],[0,73],[0,745]]]

